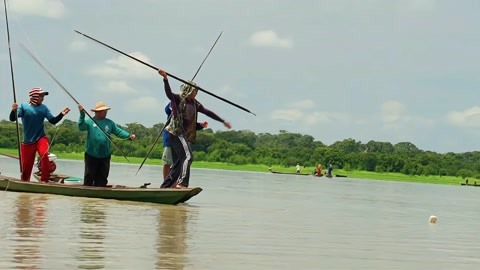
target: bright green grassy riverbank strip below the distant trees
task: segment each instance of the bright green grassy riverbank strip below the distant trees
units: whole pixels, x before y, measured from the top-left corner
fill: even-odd
[[[0,148],[0,153],[18,155],[18,151],[16,149]],[[83,153],[55,153],[55,155],[59,159],[83,160]],[[125,157],[112,156],[112,162],[140,165],[143,162],[143,158],[128,157],[128,161],[127,161]],[[148,158],[145,161],[145,164],[161,166],[162,161],[160,159]],[[269,171],[270,166],[263,165],[263,164],[235,165],[235,164],[224,163],[224,162],[194,161],[192,163],[192,168],[270,173]],[[280,165],[273,165],[271,166],[271,169],[278,172],[295,172],[296,171],[295,166],[284,167]],[[301,170],[302,170],[302,173],[311,173],[315,170],[315,167],[302,167]],[[357,171],[357,170],[346,171],[342,169],[334,169],[332,174],[346,175],[349,178],[357,178],[357,179],[386,180],[386,181],[443,184],[443,185],[460,185],[460,183],[465,182],[465,179],[462,179],[461,177],[455,177],[455,176],[405,175],[401,173],[379,173],[379,172],[367,172],[367,171]],[[473,183],[474,181],[477,181],[480,183],[480,181],[477,179],[469,179],[470,183]]]

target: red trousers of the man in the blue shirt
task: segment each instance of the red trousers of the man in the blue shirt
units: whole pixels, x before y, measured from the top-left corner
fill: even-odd
[[[48,148],[47,137],[42,137],[35,143],[22,144],[20,149],[22,155],[22,181],[30,181],[33,165],[35,163],[35,155],[38,152],[38,155],[40,156],[40,171],[42,172],[41,180],[43,182],[48,182],[48,179],[50,179]]]

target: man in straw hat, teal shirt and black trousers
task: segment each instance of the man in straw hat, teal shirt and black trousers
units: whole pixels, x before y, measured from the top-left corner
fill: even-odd
[[[95,108],[91,109],[95,112],[93,119],[85,119],[85,109],[82,105],[79,104],[78,109],[80,110],[78,128],[80,131],[87,131],[83,184],[104,187],[108,184],[110,173],[112,156],[110,136],[113,134],[121,139],[135,140],[135,134],[122,129],[107,118],[110,107],[103,102],[97,102]]]

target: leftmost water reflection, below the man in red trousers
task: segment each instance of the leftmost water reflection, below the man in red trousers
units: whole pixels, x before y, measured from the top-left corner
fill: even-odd
[[[40,244],[44,239],[45,195],[20,194],[15,206],[15,247],[13,263],[16,269],[37,269],[40,267],[42,252]]]

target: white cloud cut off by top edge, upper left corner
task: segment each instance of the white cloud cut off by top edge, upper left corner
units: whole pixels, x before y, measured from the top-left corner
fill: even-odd
[[[66,9],[61,0],[17,0],[9,1],[12,12],[25,16],[40,16],[60,19],[65,16]]]

